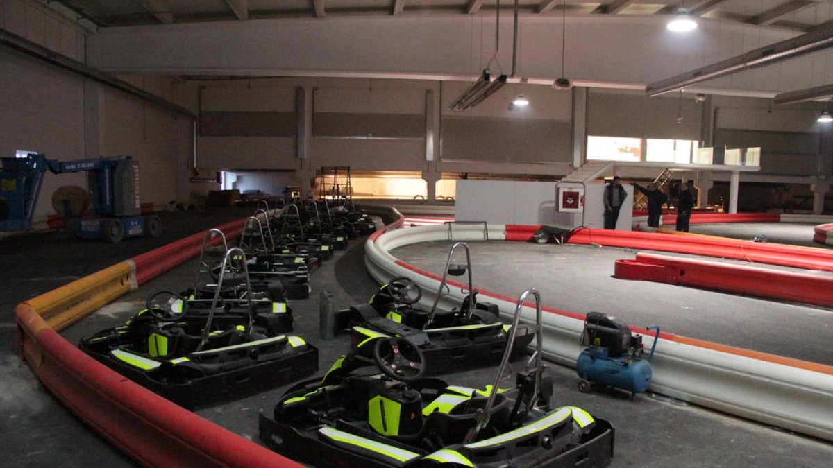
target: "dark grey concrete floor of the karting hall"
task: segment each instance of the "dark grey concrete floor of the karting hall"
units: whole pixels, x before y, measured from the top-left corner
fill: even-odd
[[[229,213],[228,216],[240,219],[248,216],[250,212],[250,209],[246,209]],[[216,226],[223,221],[226,220],[217,217],[217,220],[213,221],[212,218],[208,226]],[[204,228],[197,227],[196,222],[188,222],[186,217],[180,217],[179,221],[172,219],[167,224],[171,226],[171,234],[177,230],[186,230],[184,227],[174,228],[179,223],[194,230]],[[759,233],[761,232],[751,236]],[[0,337],[3,345],[0,350],[0,364],[2,371],[5,371],[3,379],[0,380],[0,431],[4,435],[0,439],[0,466],[132,466],[132,461],[89,431],[72,413],[63,408],[42,388],[28,367],[13,354],[13,307],[28,297],[51,290],[75,277],[87,275],[134,256],[139,251],[152,248],[153,246],[146,245],[151,240],[107,246],[47,236],[34,238],[22,244],[17,242],[0,241],[0,278],[4,286],[14,285],[2,288],[0,296]],[[404,255],[412,247],[403,247],[400,249],[402,252],[396,253],[402,255],[404,260],[432,271],[435,269],[432,265],[438,264],[438,268],[441,268],[446,257],[447,247],[441,246],[439,242],[437,244],[434,250],[427,248],[434,246],[426,246],[425,252],[419,251],[422,246],[415,246],[416,254],[412,257]],[[526,287],[538,286],[544,292],[544,301],[547,304],[571,311],[598,310],[613,313],[611,304],[616,304],[616,313],[631,323],[648,325],[646,321],[656,321],[664,330],[700,337],[696,336],[694,331],[701,329],[701,326],[711,326],[717,330],[729,329],[730,326],[721,324],[746,313],[750,307],[755,307],[752,310],[756,310],[762,302],[726,295],[721,302],[713,305],[713,301],[718,301],[718,298],[711,297],[714,293],[689,290],[683,293],[674,292],[670,297],[676,299],[662,299],[670,302],[663,302],[661,306],[651,306],[646,304],[647,296],[631,294],[631,289],[641,284],[639,281],[628,281],[626,286],[621,286],[617,284],[620,280],[609,277],[612,273],[612,260],[621,255],[632,256],[630,252],[596,249],[590,255],[590,247],[581,246],[539,246],[526,243],[512,243],[506,246],[523,249],[523,256],[520,256],[521,251],[516,254],[510,251],[481,253],[481,245],[476,246],[477,249],[472,254],[472,260],[476,262],[476,284],[510,296],[516,296]],[[526,251],[527,247],[531,247],[532,250]],[[143,250],[134,252],[133,249]],[[363,255],[362,242],[353,241],[349,250],[337,252],[335,258],[326,261],[321,268],[313,272],[313,293],[310,299],[291,303],[296,318],[295,333],[312,341],[321,351],[319,375],[327,370],[337,356],[347,350],[349,343],[347,336],[337,336],[334,341],[319,339],[318,296],[322,291],[332,291],[338,307],[367,301],[375,291],[376,285],[364,269]],[[509,261],[507,265],[506,256],[509,255],[514,260]],[[501,262],[501,258],[504,261]],[[546,258],[547,261],[541,262],[541,258]],[[591,268],[589,265],[595,266]],[[609,271],[606,271],[607,267]],[[194,268],[195,261],[192,261],[160,276],[142,287],[141,291],[123,296],[76,326],[63,331],[62,335],[71,342],[77,342],[82,336],[123,322],[135,313],[137,308],[142,307],[144,299],[153,291],[176,291],[188,286],[192,281]],[[531,273],[531,279],[511,283],[506,280],[507,270],[514,270],[513,274],[516,271],[528,271]],[[570,271],[574,273],[570,274]],[[551,274],[560,276],[548,276]],[[575,285],[565,287],[564,278],[569,276],[581,278],[581,281],[575,281]],[[536,284],[530,284],[531,281],[536,281]],[[666,285],[644,283],[643,286],[653,288]],[[547,287],[549,289],[546,289]],[[656,296],[662,298],[669,295],[657,292]],[[748,305],[748,301],[755,301],[757,306]],[[708,304],[708,307],[704,304]],[[808,313],[804,310],[805,307],[801,307],[801,311],[793,311],[794,308],[796,306],[776,304],[773,311],[768,313]],[[661,313],[666,310],[674,313]],[[826,320],[827,324],[830,323],[829,311],[811,308],[810,313],[815,313],[814,310],[819,315],[813,321]],[[641,315],[643,313],[646,315]],[[735,334],[726,332],[726,335]],[[772,331],[772,335],[773,338],[776,337],[777,330]],[[829,332],[827,336],[830,336]],[[745,340],[747,338],[745,334],[741,334],[738,340],[741,337]],[[778,340],[765,338],[762,341],[766,343]],[[830,346],[825,343],[824,346],[815,349],[827,351]],[[600,390],[583,394],[576,390],[575,371],[557,365],[551,365],[550,368],[556,386],[556,403],[581,406],[598,417],[610,420],[616,426],[616,457],[611,466],[821,467],[829,466],[829,461],[833,460],[833,446],[824,441],[738,420],[658,395],[641,395],[636,401],[631,401],[626,394],[618,391]],[[469,371],[456,374],[453,381],[478,386],[484,379],[491,381],[493,378],[490,371]],[[197,412],[257,442],[257,413],[261,410],[272,411],[272,405],[282,394],[282,390],[275,389]]]

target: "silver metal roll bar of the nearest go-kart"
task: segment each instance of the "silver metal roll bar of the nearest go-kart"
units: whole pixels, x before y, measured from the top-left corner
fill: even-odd
[[[501,377],[503,376],[503,372],[506,371],[506,366],[509,364],[509,356],[512,353],[512,346],[515,345],[515,336],[517,335],[518,324],[521,322],[521,311],[523,310],[523,303],[526,301],[526,296],[529,295],[535,296],[535,321],[536,321],[536,351],[535,355],[532,356],[531,359],[535,359],[535,391],[532,394],[529,402],[526,405],[526,411],[530,411],[535,405],[538,400],[538,393],[541,391],[541,346],[543,346],[543,340],[541,338],[541,293],[538,292],[535,288],[527,289],[521,293],[521,296],[518,297],[517,305],[515,306],[515,316],[512,318],[512,327],[509,334],[509,338],[506,341],[506,351],[503,351],[503,359],[501,360],[501,367],[497,371],[497,378],[495,379],[495,384],[491,386],[491,391],[489,392],[489,399],[486,400],[486,406],[483,406],[483,409],[477,414],[476,416],[476,425],[474,428],[466,434],[466,439],[463,441],[463,444],[467,444],[474,440],[477,436],[477,433],[480,432],[487,424],[489,424],[489,412],[491,411],[491,407],[495,405],[495,398],[497,396],[497,387],[501,384]],[[531,361],[531,360],[530,360]]]

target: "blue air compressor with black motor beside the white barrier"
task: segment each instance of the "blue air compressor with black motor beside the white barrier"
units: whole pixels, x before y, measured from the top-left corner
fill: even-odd
[[[642,336],[634,336],[625,322],[602,312],[588,312],[581,334],[584,349],[576,360],[579,391],[590,391],[591,382],[630,391],[631,400],[646,391],[660,327],[652,325],[648,330],[656,330],[656,335],[646,358]]]

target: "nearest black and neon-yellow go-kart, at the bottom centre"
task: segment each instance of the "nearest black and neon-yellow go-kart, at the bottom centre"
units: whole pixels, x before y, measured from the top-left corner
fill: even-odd
[[[515,326],[528,294],[541,324],[540,296],[528,290]],[[321,381],[294,386],[271,415],[261,411],[260,438],[313,466],[606,466],[613,427],[576,406],[551,407],[538,336],[534,366],[517,374],[514,387],[498,388],[510,346],[482,390],[423,377],[425,355],[407,338],[368,338]],[[367,366],[372,372],[360,372]]]

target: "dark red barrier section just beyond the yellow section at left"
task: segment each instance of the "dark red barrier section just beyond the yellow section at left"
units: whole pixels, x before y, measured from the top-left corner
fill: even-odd
[[[217,229],[226,235],[227,240],[240,235],[243,232],[243,220],[232,221],[218,226]],[[187,261],[192,256],[197,256],[202,248],[202,237],[205,232],[198,232],[192,236],[184,237],[178,241],[171,242],[167,246],[161,246],[152,251],[148,251],[139,256],[132,258],[133,263],[136,264],[136,281],[139,286],[142,286],[147,281],[161,275],[165,271],[179,266],[183,261]],[[221,242],[219,236],[212,239],[212,245],[217,245]]]

